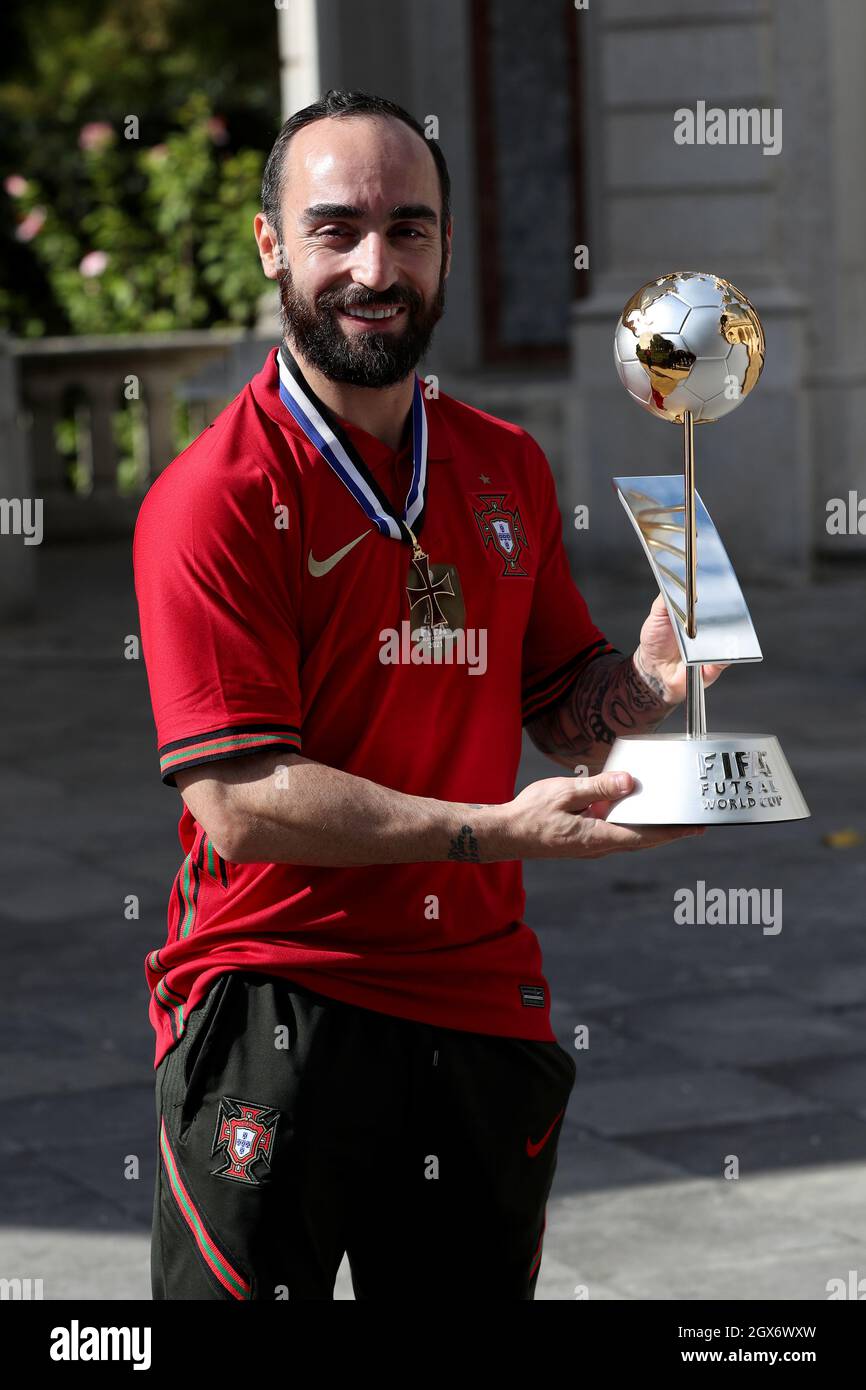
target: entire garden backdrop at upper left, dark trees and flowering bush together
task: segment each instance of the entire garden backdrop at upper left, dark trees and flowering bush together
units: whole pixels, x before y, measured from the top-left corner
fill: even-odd
[[[26,192],[0,190],[0,328],[252,324],[264,288],[252,220],[278,113],[275,11],[10,0],[0,164]],[[97,272],[82,274],[93,252]]]

